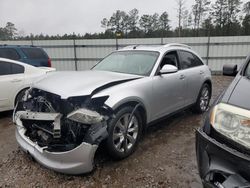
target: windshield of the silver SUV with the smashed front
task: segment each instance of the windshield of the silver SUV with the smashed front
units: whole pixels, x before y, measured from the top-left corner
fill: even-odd
[[[148,76],[158,56],[158,52],[151,51],[114,52],[98,63],[93,70]]]

